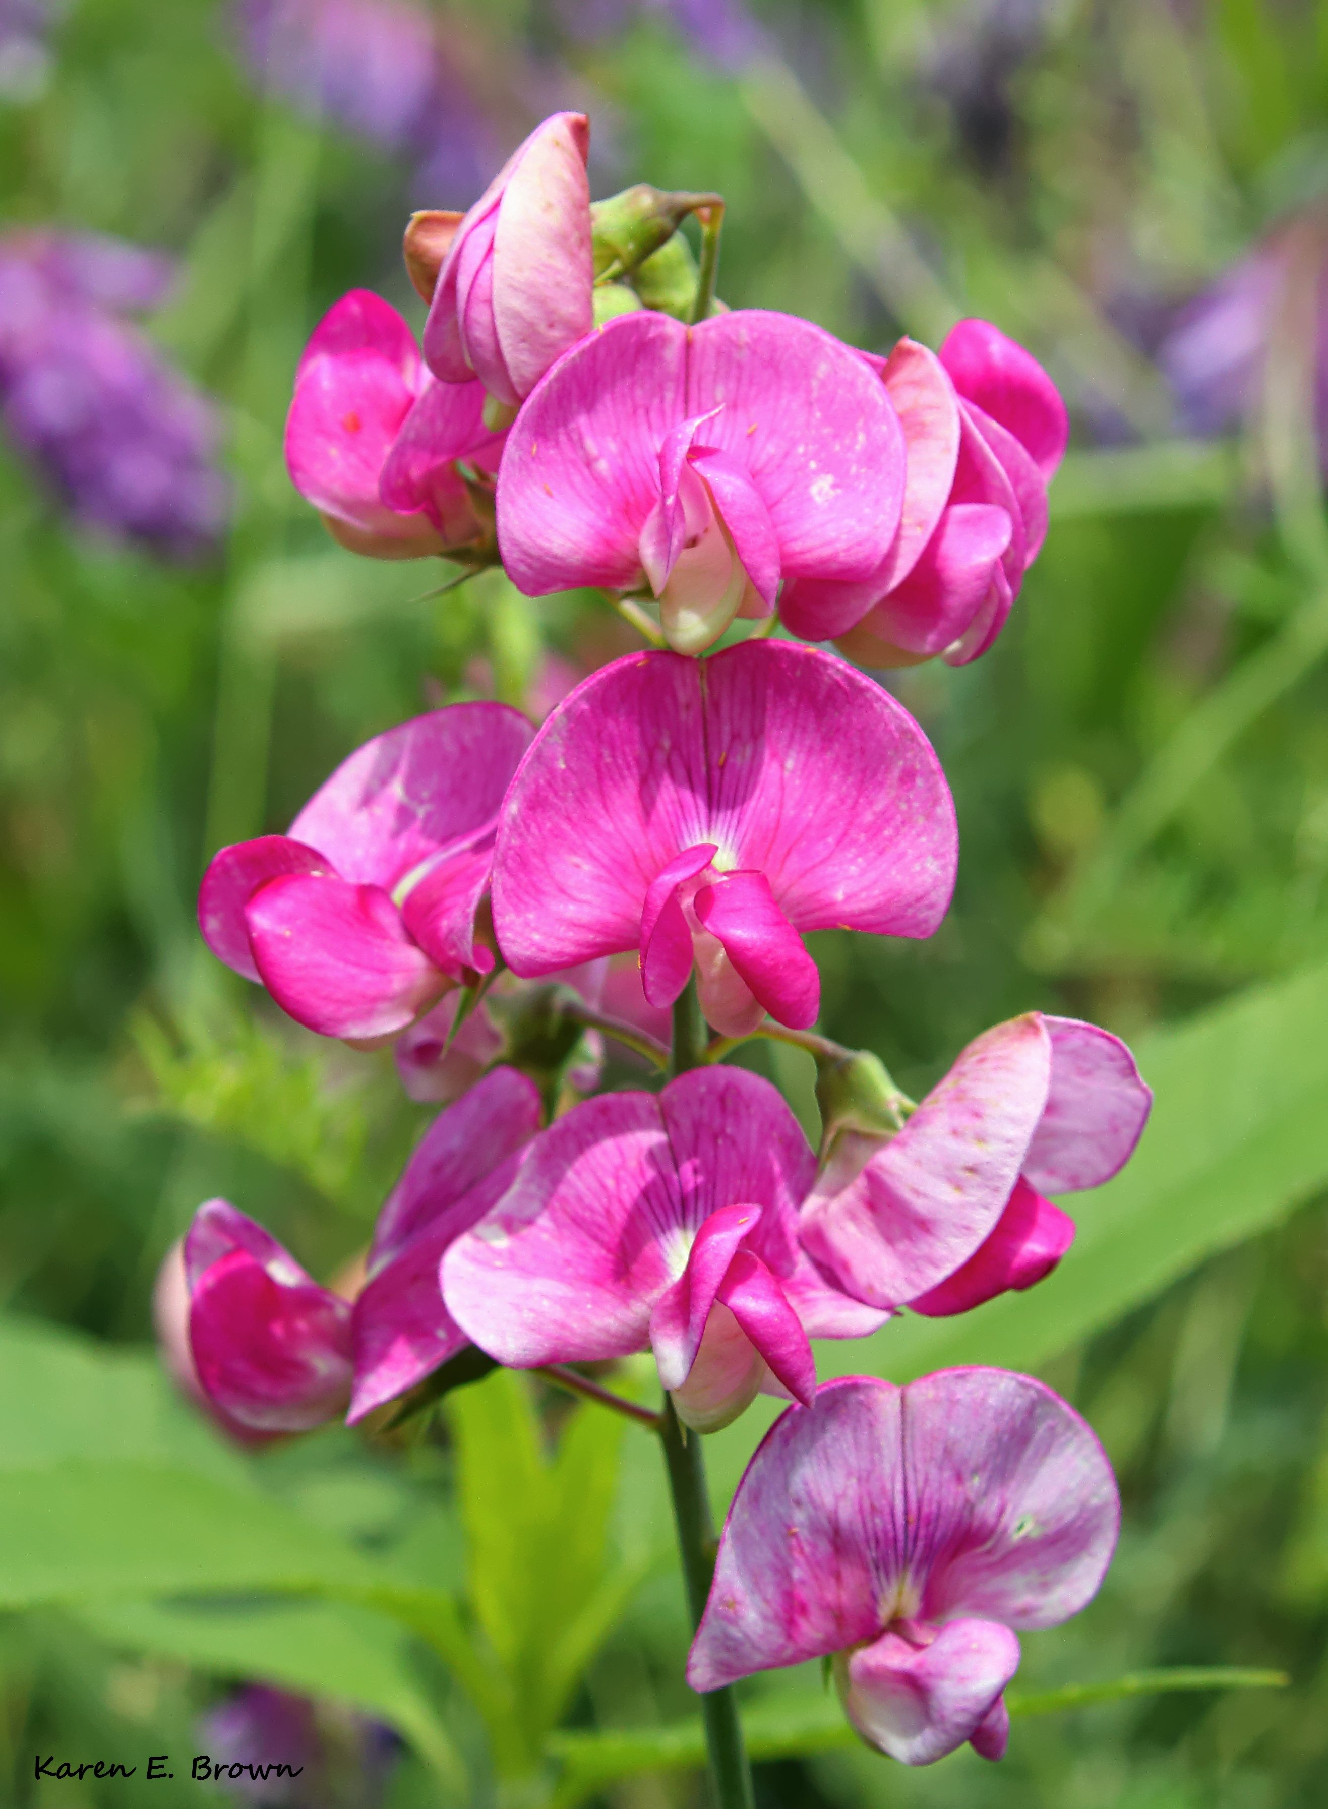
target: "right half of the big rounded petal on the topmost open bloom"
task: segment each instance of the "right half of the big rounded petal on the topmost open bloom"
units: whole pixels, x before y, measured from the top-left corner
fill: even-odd
[[[905,441],[863,360],[794,315],[745,308],[691,329],[688,414],[769,510],[785,577],[865,579],[890,550]]]

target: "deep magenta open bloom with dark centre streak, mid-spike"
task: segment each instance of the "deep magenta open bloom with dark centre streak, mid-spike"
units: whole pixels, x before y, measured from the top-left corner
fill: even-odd
[[[932,935],[955,819],[923,731],[829,653],[749,640],[704,664],[633,653],[550,715],[503,807],[494,926],[514,973],[640,952],[671,1004],[693,959],[707,1020],[807,1028],[800,932]]]

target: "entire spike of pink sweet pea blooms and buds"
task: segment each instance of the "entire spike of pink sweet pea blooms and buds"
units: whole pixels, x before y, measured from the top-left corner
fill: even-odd
[[[1040,1283],[1075,1236],[1048,1196],[1109,1179],[1151,1094],[1116,1037],[1037,1011],[919,1103],[812,1035],[805,933],[932,935],[957,832],[921,727],[800,642],[870,666],[986,651],[1066,414],[984,322],[874,358],[722,309],[691,262],[686,306],[650,304],[648,264],[686,212],[709,233],[718,197],[595,212],[586,134],[559,114],[465,217],[416,215],[423,351],[346,297],[297,373],[289,467],[347,546],[501,559],[530,595],[599,586],[655,608],[662,644],[537,729],[499,704],[391,729],[286,836],[212,861],[210,948],[306,1028],[394,1042],[443,1111],[353,1299],[226,1201],[199,1210],[194,1375],[253,1435],[360,1422],[469,1346],[519,1369],[651,1351],[700,1433],[791,1400],[733,1503],[693,1684],[821,1655],[883,1751],[995,1758],[1013,1628],[1077,1612],[1109,1561],[1105,1458],[1024,1377],[818,1389],[814,1340]],[[738,617],[764,626],[736,639]],[[586,1033],[666,1066],[669,1008],[662,1089],[583,1096]],[[818,1053],[820,1154],[767,1080],[722,1066],[754,1033]]]

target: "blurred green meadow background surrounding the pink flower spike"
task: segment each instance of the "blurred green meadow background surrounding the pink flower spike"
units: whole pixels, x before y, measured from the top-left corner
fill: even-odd
[[[512,1677],[521,1652],[599,1605],[584,1662],[568,1661],[561,1699],[550,1686],[550,1726],[689,1711],[646,1440],[639,1451],[628,1433],[619,1473],[617,1440],[566,1454],[564,1435],[570,1496],[541,1494],[534,1445],[525,1482],[503,1469],[537,1427],[499,1378],[376,1460],[337,1433],[241,1456],[172,1402],[147,1351],[157,1264],[203,1198],[226,1194],[331,1274],[364,1245],[427,1116],[391,1056],[304,1035],[206,957],[194,894],[210,852],[284,829],[337,760],[396,720],[458,696],[526,702],[546,653],[584,669],[622,646],[593,599],[528,604],[494,577],[438,597],[436,564],[356,561],[280,459],[318,315],[371,286],[420,326],[398,255],[407,210],[467,206],[545,112],[575,105],[592,114],[597,195],[635,179],[726,194],[733,306],[805,313],[877,351],[979,313],[1067,396],[1051,534],[999,646],[963,671],[888,678],[955,792],[955,908],[926,946],[818,939],[823,1028],[874,1047],[919,1094],[1001,1017],[1091,1017],[1136,1042],[1158,1109],[1138,1163],[1084,1205],[1051,1283],[961,1322],[887,1328],[870,1360],[890,1375],[1037,1369],[1107,1444],[1125,1494],[1120,1558],[1091,1610],[1026,1641],[1028,1691],[1158,1664],[1292,1675],[1286,1691],[1029,1717],[999,1767],[964,1753],[905,1773],[839,1744],[764,1766],[760,1802],[1321,1804],[1328,528],[1314,436],[1328,5],[420,11],[432,62],[407,105],[391,56],[355,52],[347,76],[318,40],[317,56],[264,65],[262,7],[0,0],[4,232],[109,233],[179,259],[143,331],[217,398],[233,481],[228,534],[172,563],[72,521],[22,436],[0,431],[0,1606],[13,1610],[0,1796],[138,1802],[136,1785],[36,1782],[33,1753],[203,1751],[197,1715],[257,1677],[396,1726],[400,1809],[494,1789],[517,1802],[501,1740],[485,1746],[501,1715],[487,1737],[438,1662],[451,1637],[438,1601],[456,1590],[499,1657],[516,1641]],[[327,42],[353,40],[346,16],[367,31],[375,13],[400,25],[387,0],[300,0],[282,29],[317,36],[333,14]],[[1187,438],[1158,347],[1285,219],[1308,223],[1310,253],[1286,264],[1263,382],[1221,436]],[[1228,324],[1219,349],[1239,331]],[[785,1055],[767,1071],[811,1123],[809,1073]],[[534,1409],[548,1431],[548,1402]],[[753,1416],[715,1442],[720,1489],[756,1431]],[[534,1503],[498,1558],[483,1549],[481,1473],[507,1478],[499,1501],[516,1489]],[[228,1516],[199,1491],[224,1501],[223,1485],[288,1516],[253,1549],[306,1529],[309,1550],[333,1541],[324,1568],[356,1550],[432,1588],[432,1655],[423,1597],[393,1606],[380,1577],[338,1601],[277,1556],[246,1568],[233,1520],[239,1556],[204,1574],[197,1552],[221,1550]],[[150,1550],[116,1545],[118,1514],[143,1518]],[[179,1530],[174,1556],[157,1525]],[[498,1594],[483,1596],[481,1572],[503,1577]],[[796,1713],[774,1706],[785,1726]],[[161,1804],[215,1800],[183,1769],[157,1789]],[[552,1800],[704,1800],[686,1771],[584,1789]]]

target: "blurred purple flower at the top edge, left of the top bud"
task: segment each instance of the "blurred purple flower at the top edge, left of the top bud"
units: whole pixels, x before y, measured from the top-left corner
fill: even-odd
[[[413,157],[423,195],[465,204],[501,161],[434,20],[411,0],[239,0],[237,18],[255,80]]]

